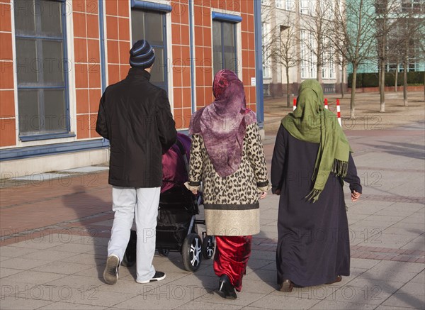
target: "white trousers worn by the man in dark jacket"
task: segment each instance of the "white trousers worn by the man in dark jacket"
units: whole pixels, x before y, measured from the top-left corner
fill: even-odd
[[[136,221],[137,281],[146,281],[155,275],[152,260],[155,254],[157,216],[161,187],[112,188],[112,210],[115,212],[108,243],[108,256],[117,255],[123,261],[125,249],[130,240],[133,219]]]

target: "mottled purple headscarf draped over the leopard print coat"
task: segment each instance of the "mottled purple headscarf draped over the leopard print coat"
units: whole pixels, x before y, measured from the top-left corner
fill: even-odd
[[[193,114],[189,134],[203,136],[215,171],[227,177],[239,168],[246,126],[256,122],[256,115],[246,109],[244,84],[234,72],[217,72],[212,93],[215,101]]]

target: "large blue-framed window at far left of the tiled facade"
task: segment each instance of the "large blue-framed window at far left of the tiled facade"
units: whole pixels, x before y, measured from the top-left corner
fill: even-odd
[[[18,127],[30,136],[69,133],[64,1],[14,1]]]

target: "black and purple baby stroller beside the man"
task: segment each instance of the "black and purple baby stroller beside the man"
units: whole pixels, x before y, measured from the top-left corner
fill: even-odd
[[[179,251],[185,269],[196,271],[202,258],[212,258],[215,238],[203,231],[201,240],[196,231],[196,224],[205,225],[205,220],[196,219],[202,197],[184,186],[188,180],[190,149],[191,139],[178,133],[176,143],[162,156],[163,185],[159,197],[156,247],[162,256],[169,255],[170,251]],[[130,267],[135,264],[136,240],[136,232],[131,231],[121,265]]]

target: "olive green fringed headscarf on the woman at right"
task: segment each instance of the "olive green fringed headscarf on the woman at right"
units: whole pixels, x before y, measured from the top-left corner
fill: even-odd
[[[350,145],[338,120],[324,109],[323,91],[315,79],[307,79],[298,89],[297,109],[282,119],[282,125],[298,140],[319,143],[312,181],[314,187],[305,198],[319,199],[330,172],[345,177]]]

